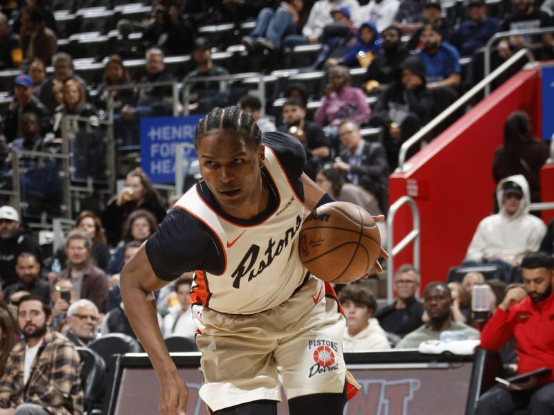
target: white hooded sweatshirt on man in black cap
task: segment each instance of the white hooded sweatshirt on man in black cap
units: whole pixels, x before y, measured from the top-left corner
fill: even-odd
[[[506,214],[502,203],[502,187],[507,181],[517,183],[523,190],[519,207],[512,216]],[[487,216],[477,225],[465,257],[480,262],[485,257],[497,255],[503,261],[519,263],[526,254],[539,249],[546,225],[537,216],[529,214],[529,185],[522,174],[499,181],[497,200],[500,212]]]

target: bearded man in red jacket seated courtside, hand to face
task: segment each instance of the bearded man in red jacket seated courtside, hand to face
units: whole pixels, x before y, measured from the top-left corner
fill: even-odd
[[[498,351],[515,338],[518,374],[549,367],[544,376],[526,382],[497,385],[477,405],[476,415],[511,414],[528,408],[530,415],[554,414],[554,257],[544,252],[521,261],[524,288],[510,288],[481,333],[481,347]]]

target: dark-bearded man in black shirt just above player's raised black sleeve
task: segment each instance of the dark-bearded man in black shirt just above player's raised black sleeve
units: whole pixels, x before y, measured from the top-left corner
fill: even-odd
[[[283,104],[283,121],[279,131],[289,133],[302,143],[306,151],[304,172],[313,180],[323,161],[331,155],[330,137],[319,125],[306,120],[306,108],[297,98],[289,98]]]

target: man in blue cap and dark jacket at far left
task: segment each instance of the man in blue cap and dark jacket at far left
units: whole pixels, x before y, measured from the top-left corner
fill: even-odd
[[[14,99],[10,102],[6,120],[4,121],[4,135],[8,142],[21,136],[21,120],[24,113],[35,113],[39,118],[41,132],[47,133],[50,128],[50,113],[44,104],[33,95],[33,80],[26,73],[17,75],[14,80]]]

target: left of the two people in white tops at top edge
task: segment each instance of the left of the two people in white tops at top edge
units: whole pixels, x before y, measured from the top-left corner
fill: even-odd
[[[350,15],[357,16],[359,3],[356,0],[318,0],[312,6],[310,15],[302,28],[302,36],[291,35],[285,39],[285,45],[316,44],[320,42],[325,25],[332,23],[330,12],[334,7],[346,7]]]

